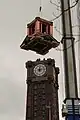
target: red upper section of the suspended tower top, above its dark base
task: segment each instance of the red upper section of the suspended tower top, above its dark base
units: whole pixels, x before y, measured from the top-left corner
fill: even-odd
[[[27,24],[27,35],[31,36],[37,33],[53,35],[53,22],[36,17]]]

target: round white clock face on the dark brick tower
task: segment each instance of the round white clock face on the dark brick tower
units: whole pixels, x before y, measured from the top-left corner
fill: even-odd
[[[34,74],[37,76],[42,76],[45,74],[45,72],[46,72],[46,67],[43,64],[38,64],[34,68]]]

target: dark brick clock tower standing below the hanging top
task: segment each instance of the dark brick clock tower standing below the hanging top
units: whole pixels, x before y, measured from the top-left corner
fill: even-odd
[[[26,62],[26,120],[59,120],[58,74],[54,59]]]

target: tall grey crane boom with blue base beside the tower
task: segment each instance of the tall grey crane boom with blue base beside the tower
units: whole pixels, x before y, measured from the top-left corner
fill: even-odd
[[[62,108],[62,116],[66,120],[79,120],[80,99],[78,98],[76,64],[74,52],[74,40],[72,34],[72,22],[70,0],[61,0],[62,31],[63,31],[63,55],[65,73],[65,100]]]

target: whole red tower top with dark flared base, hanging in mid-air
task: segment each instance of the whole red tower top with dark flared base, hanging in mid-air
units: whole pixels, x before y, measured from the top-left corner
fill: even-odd
[[[36,17],[31,23],[27,24],[27,36],[20,47],[45,55],[51,48],[58,45],[59,42],[53,37],[53,22]]]

